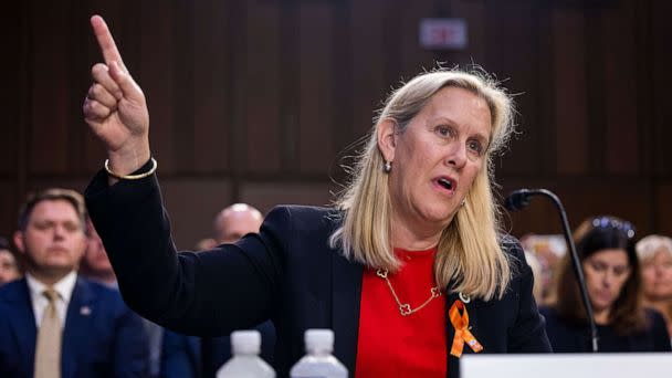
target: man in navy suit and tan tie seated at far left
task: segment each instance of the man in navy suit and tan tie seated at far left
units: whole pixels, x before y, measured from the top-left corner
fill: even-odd
[[[23,206],[14,243],[25,277],[0,288],[0,377],[136,377],[147,368],[140,318],[119,293],[77,276],[86,211],[72,190]]]

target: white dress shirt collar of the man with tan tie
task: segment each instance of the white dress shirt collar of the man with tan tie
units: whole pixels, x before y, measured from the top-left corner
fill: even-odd
[[[30,291],[30,301],[33,304],[33,314],[35,314],[35,325],[40,328],[42,323],[42,316],[49,305],[49,300],[44,296],[46,285],[35,280],[30,273],[25,273],[25,281],[28,282],[28,288]],[[75,288],[75,282],[77,281],[77,273],[72,271],[66,276],[56,282],[53,287],[59,293],[59,300],[56,301],[56,314],[61,319],[61,326],[65,324],[65,316],[67,315],[67,305],[72,297],[72,292]]]

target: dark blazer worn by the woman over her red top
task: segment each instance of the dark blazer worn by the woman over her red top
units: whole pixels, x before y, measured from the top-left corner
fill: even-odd
[[[177,254],[155,176],[108,187],[101,171],[85,197],[124,298],[144,317],[201,336],[271,318],[279,376],[304,355],[307,328],[330,328],[334,355],[354,375],[364,267],[328,246],[339,212],[277,207],[259,234],[209,252]],[[550,351],[532,296],[532,271],[517,242],[505,238],[503,243],[517,261],[516,274],[502,300],[466,305],[472,333],[484,353]],[[449,291],[447,303],[456,298]],[[450,345],[454,330],[448,319],[444,332]],[[458,377],[456,358],[448,365],[449,376]]]

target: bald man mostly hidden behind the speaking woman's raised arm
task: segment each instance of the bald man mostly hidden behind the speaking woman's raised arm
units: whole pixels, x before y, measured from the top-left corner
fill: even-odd
[[[213,221],[212,248],[233,243],[248,233],[259,232],[263,221],[261,212],[246,203],[234,203],[220,211]],[[275,329],[271,322],[255,327],[262,336],[261,357],[273,363]],[[161,374],[164,378],[214,377],[217,370],[231,358],[231,340],[222,337],[185,336],[164,332],[161,349]]]

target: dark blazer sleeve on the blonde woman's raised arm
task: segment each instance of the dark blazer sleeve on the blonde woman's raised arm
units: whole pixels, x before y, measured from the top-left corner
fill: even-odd
[[[260,234],[239,244],[178,254],[155,176],[108,186],[101,171],[85,198],[124,300],[141,316],[199,336],[228,334],[272,317],[282,281],[279,235],[292,232],[284,229],[291,223],[282,210],[266,217]]]

